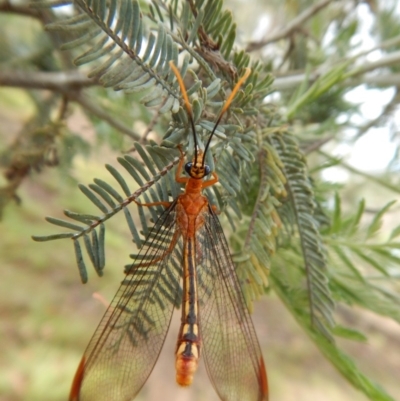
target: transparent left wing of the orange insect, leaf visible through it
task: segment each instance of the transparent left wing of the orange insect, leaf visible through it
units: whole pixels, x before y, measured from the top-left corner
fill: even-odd
[[[151,373],[181,301],[182,240],[175,206],[158,219],[97,327],[71,400],[132,400]]]

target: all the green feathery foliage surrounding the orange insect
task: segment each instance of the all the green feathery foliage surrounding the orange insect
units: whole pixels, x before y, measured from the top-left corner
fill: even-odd
[[[65,4],[71,6],[68,15],[56,15],[49,8]],[[351,40],[358,29],[354,17],[346,18],[344,13],[335,17],[343,29],[330,44],[337,50],[331,59],[322,48],[308,54],[304,38],[296,38],[296,54],[288,51],[287,60],[291,66],[304,67],[305,76],[297,90],[284,94],[283,98],[290,100],[284,104],[283,115],[275,104],[265,101],[272,91],[269,71],[276,68],[275,60],[251,61],[249,53],[235,49],[236,22],[222,0],[153,0],[149,4],[130,0],[56,0],[35,1],[33,5],[49,13],[51,23],[46,29],[50,35],[59,35],[62,48],[73,55],[75,65],[90,68],[91,85],[100,84],[123,95],[110,95],[99,88],[91,93],[99,98],[110,96],[110,103],[115,103],[109,106],[113,114],[119,109],[135,110],[136,115],[126,114],[118,119],[127,124],[135,119],[145,120],[149,130],[155,125],[154,131],[162,136],[160,144],[141,138],[135,142],[132,155],[118,158],[120,166],[107,165],[110,180],[94,179],[88,186],[79,186],[93,203],[94,211],[65,210],[69,220],[48,217],[49,223],[63,231],[34,239],[72,239],[82,282],[88,280],[87,262],[99,276],[103,274],[107,223],[119,212],[123,212],[139,248],[164,208],[157,206],[147,211],[135,201],[176,198],[181,190],[174,179],[180,155],[177,145],[189,156],[194,147],[169,61],[178,66],[187,85],[200,146],[210,135],[227,93],[243,69],[250,67],[251,76],[218,126],[207,155],[207,163],[220,179],[219,186],[207,189],[207,196],[232,228],[230,244],[248,305],[251,307],[252,301],[270,287],[321,352],[356,388],[372,400],[390,400],[337,347],[335,337],[357,341],[366,337],[357,330],[336,325],[334,306],[356,304],[400,322],[400,297],[393,283],[400,263],[396,253],[400,228],[395,228],[387,239],[379,238],[382,219],[392,203],[375,213],[368,224],[364,223],[364,201],[348,215],[341,210],[341,197],[335,194],[334,206],[329,207],[329,186],[319,181],[318,174],[331,165],[344,164],[332,158],[327,163],[312,161],[316,164],[312,177],[302,151],[307,145],[302,141],[306,133],[312,131],[313,140],[320,140],[325,132],[334,136],[339,126],[337,116],[344,111],[357,113],[357,108],[343,98],[346,80],[358,71],[352,69],[354,57],[349,57]],[[390,16],[380,15],[394,24]],[[324,19],[318,23],[314,34],[322,35],[328,24]],[[394,28],[393,25],[385,30],[382,25],[381,35],[390,38],[397,32]],[[35,60],[38,66],[38,58]],[[46,60],[46,69],[63,69],[59,58]],[[44,68],[43,63],[40,68]],[[319,70],[312,70],[316,65]],[[127,98],[133,107],[124,100]],[[84,104],[76,94],[71,99]],[[56,136],[66,143],[76,143],[81,150],[84,147],[83,140],[80,144],[65,135],[59,124],[49,124],[50,106],[42,108],[41,116],[29,131],[32,135],[25,137],[29,145],[16,143],[11,154],[18,155],[27,170],[46,164],[44,155],[51,153]],[[98,132],[105,120],[121,127],[111,118],[97,115]],[[51,129],[44,130],[45,124]],[[317,127],[309,129],[309,124]],[[125,132],[136,138],[130,130]],[[33,149],[32,154],[26,154],[27,148]],[[66,158],[72,156],[67,154]],[[4,164],[12,166],[12,157],[6,159]],[[396,184],[376,177],[364,178],[396,188]],[[6,193],[2,204],[15,196],[16,188]]]

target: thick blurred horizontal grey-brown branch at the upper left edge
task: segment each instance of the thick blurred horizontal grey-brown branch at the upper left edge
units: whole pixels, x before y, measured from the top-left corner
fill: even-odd
[[[76,70],[65,72],[0,71],[0,86],[48,89],[57,92],[76,91],[98,85]]]

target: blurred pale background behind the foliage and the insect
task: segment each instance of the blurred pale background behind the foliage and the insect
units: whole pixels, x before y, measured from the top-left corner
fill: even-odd
[[[335,110],[335,124],[321,128],[335,134],[321,147],[326,160],[338,158],[321,175],[340,190],[345,210],[353,210],[365,198],[372,218],[388,201],[399,199],[399,188],[390,183],[390,177],[399,171],[399,64],[396,60],[385,63],[386,50],[398,53],[399,2],[259,0],[250,4],[230,0],[224,4],[233,10],[237,22],[238,46],[247,47],[252,57],[271,63],[277,91],[266,101],[276,102],[283,113],[298,86],[293,77],[305,73],[300,67],[305,53],[308,58],[312,58],[310,53],[314,56],[315,66],[322,50],[325,55],[335,51],[342,52],[343,57],[354,55],[354,64],[361,66],[383,60],[371,67],[371,75],[356,78],[358,82],[340,93],[343,103]],[[0,167],[4,174],[0,178],[0,400],[57,401],[67,399],[82,353],[105,311],[93,294],[112,298],[122,279],[123,265],[135,249],[123,219],[113,219],[106,237],[105,274],[99,278],[91,272],[89,282],[82,285],[70,241],[36,243],[31,235],[51,233],[44,216],[62,218],[63,209],[90,213],[92,206],[77,183],[89,184],[94,177],[107,177],[104,164],[116,165],[116,157],[132,146],[129,133],[144,132],[152,116],[143,107],[132,108],[132,99],[92,88],[92,96],[101,98],[102,110],[96,112],[82,101],[73,104],[63,114],[65,126],[54,129],[57,137],[46,145],[46,157],[29,174],[20,174],[19,182],[10,190],[13,150],[25,146],[26,155],[32,149],[32,138],[45,143],[47,132],[37,131],[37,120],[54,119],[65,112],[62,107],[51,109],[51,91],[7,83],[6,70],[51,70],[54,37],[49,39],[43,31],[44,19],[27,10],[24,2],[0,0]],[[307,10],[310,15],[297,26],[296,34],[286,32],[285,36],[282,31]],[[338,32],[347,36],[340,38]],[[270,46],[263,44],[277,33],[282,33],[281,39],[275,38]],[[302,40],[304,43],[299,44]],[[393,42],[390,46],[382,45],[389,40]],[[288,57],[290,46],[297,52]],[[307,49],[304,53],[302,46]],[[377,82],[386,75],[392,81]],[[46,104],[47,111],[41,109]],[[310,115],[299,116],[294,130],[320,124]],[[125,124],[127,135],[121,134],[114,120]],[[320,165],[321,157],[311,156],[310,166]],[[52,164],[58,168],[50,168]],[[395,205],[384,220],[382,238],[398,225],[399,217],[400,209]],[[400,270],[396,274],[399,278]],[[342,307],[338,315],[340,321],[368,337],[366,342],[341,340],[340,346],[365,374],[400,400],[398,323],[356,307]],[[271,400],[366,400],[325,360],[273,293],[256,304],[253,319],[267,364]],[[138,400],[218,400],[203,365],[191,388],[180,389],[175,384],[178,322],[176,314],[160,360]]]

